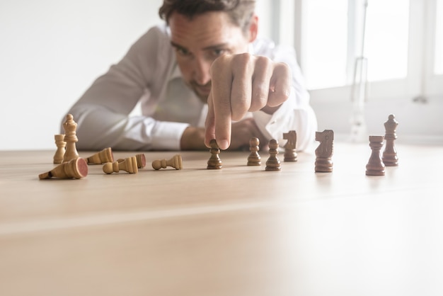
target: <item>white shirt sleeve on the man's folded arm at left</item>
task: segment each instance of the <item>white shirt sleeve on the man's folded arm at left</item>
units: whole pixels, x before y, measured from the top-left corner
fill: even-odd
[[[163,85],[160,82],[164,83],[173,67],[169,55],[166,30],[151,28],[120,62],[93,82],[69,110],[78,124],[78,149],[180,149],[188,124],[130,116],[142,96]]]

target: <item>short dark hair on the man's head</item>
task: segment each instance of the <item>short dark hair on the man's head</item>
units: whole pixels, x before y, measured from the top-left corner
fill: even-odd
[[[226,12],[234,25],[246,30],[255,9],[255,0],[164,0],[159,16],[168,23],[172,13],[180,13],[190,20],[209,11]]]

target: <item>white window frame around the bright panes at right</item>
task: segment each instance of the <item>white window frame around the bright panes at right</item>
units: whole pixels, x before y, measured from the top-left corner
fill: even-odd
[[[280,0],[280,11],[286,0]],[[301,69],[306,67],[304,62],[304,3],[309,0],[294,0],[294,47],[297,51],[297,59]],[[354,9],[355,15],[350,13],[350,21],[357,19],[358,11],[355,10],[357,1],[348,0],[350,9]],[[369,0],[370,1],[370,0]],[[443,75],[434,74],[435,64],[435,34],[436,34],[436,14],[437,0],[409,0],[409,40],[408,40],[408,73],[404,79],[391,79],[384,81],[367,82],[367,101],[380,101],[391,98],[427,98],[428,96],[442,96],[443,98]],[[369,2],[370,3],[370,2]],[[370,5],[370,4],[369,4]],[[282,20],[284,18],[280,18]],[[282,22],[276,24],[279,28],[277,41],[283,40],[288,35],[287,26]],[[349,24],[350,27],[354,25]],[[354,43],[357,38],[355,32],[350,30],[348,34],[348,43]],[[348,45],[348,49],[350,46]],[[352,79],[349,79],[350,71],[353,73],[353,67],[350,67],[348,56],[347,66],[347,84],[327,89],[310,89],[311,97],[317,101],[348,101],[351,99]]]

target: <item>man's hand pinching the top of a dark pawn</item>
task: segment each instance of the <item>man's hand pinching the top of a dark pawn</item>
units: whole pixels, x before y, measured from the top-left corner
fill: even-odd
[[[207,100],[205,145],[217,140],[220,149],[231,142],[231,120],[247,112],[272,114],[289,98],[291,72],[283,63],[250,54],[222,55],[211,67],[212,89]],[[249,140],[249,139],[248,139]]]

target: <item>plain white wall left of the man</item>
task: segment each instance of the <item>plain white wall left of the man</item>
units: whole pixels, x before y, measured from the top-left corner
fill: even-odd
[[[151,25],[161,0],[1,0],[0,150],[54,149],[69,107]]]

